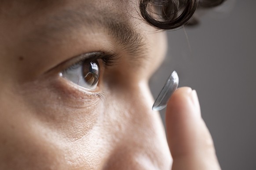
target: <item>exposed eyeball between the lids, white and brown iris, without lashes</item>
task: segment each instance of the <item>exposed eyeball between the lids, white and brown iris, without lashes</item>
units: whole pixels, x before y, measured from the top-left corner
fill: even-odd
[[[63,78],[88,90],[96,89],[99,82],[99,74],[99,62],[97,60],[85,60],[61,72]]]

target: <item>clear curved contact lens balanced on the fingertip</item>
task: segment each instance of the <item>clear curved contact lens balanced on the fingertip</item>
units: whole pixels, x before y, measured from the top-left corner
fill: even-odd
[[[176,71],[173,71],[172,74],[167,79],[163,89],[159,93],[152,110],[159,111],[166,107],[169,98],[172,96],[172,93],[178,88],[179,85],[179,76]]]

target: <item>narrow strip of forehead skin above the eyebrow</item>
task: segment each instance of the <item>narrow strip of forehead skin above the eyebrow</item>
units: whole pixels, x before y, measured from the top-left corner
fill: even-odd
[[[59,11],[63,8],[72,10],[84,10],[88,14],[107,14],[108,12],[121,13],[132,12],[131,0],[1,0],[1,14],[26,16],[38,12]]]

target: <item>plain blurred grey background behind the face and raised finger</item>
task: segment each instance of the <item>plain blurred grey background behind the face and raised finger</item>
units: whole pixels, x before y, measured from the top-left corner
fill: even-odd
[[[200,25],[185,28],[188,39],[183,28],[168,32],[168,56],[150,87],[157,97],[176,70],[180,87],[197,90],[222,169],[256,170],[256,0],[201,14]]]

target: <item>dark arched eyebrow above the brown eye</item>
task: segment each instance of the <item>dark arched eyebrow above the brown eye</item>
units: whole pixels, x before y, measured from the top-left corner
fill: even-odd
[[[123,47],[122,50],[126,50],[128,54],[134,56],[134,59],[138,60],[139,56],[143,56],[146,50],[146,48],[143,49],[144,39],[139,32],[132,29],[130,24],[120,18],[117,18],[117,14],[113,13],[102,14],[99,12],[93,14],[79,10],[65,10],[49,18],[47,25],[39,27],[34,37],[49,42],[52,40],[52,35],[63,35],[63,32],[74,31],[80,27],[87,27],[93,32],[94,26],[102,26]]]

